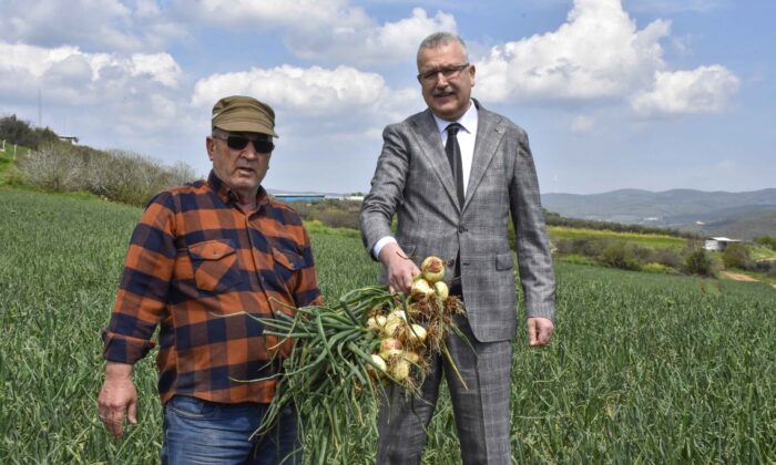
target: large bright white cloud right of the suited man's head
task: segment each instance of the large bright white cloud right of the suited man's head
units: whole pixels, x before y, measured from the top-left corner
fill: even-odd
[[[738,79],[724,66],[668,71],[670,22],[637,30],[619,0],[575,0],[557,31],[494,46],[477,62],[486,102],[622,101],[639,114],[719,112]]]

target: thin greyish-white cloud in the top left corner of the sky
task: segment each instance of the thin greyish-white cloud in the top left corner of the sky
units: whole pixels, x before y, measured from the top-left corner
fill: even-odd
[[[156,0],[3,0],[0,30],[7,41],[125,52],[159,51],[188,37]]]

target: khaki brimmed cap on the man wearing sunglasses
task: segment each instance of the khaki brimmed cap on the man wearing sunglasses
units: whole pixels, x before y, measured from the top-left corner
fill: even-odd
[[[213,105],[212,127],[234,133],[275,134],[275,112],[266,103],[245,95],[221,99]]]

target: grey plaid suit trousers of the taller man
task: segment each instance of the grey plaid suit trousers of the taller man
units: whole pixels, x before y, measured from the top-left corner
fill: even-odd
[[[463,464],[511,464],[511,341],[481,343],[466,318],[456,317],[456,323],[471,345],[455,334],[448,335],[446,343],[468,389],[443,354],[432,358],[421,399],[407,397],[401,389],[389,389],[389,399],[380,406],[377,464],[420,464],[442,374],[450,391]]]

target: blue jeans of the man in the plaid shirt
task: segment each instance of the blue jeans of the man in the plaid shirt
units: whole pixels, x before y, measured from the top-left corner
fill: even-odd
[[[174,396],[164,405],[162,464],[300,464],[296,410],[290,406],[272,431],[248,441],[266,410],[267,404]]]

